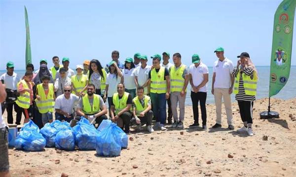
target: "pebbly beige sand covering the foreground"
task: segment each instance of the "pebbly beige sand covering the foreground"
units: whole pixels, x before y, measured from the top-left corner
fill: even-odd
[[[98,157],[96,151],[9,149],[11,176],[60,177],[65,173],[69,177],[295,177],[296,98],[272,99],[271,103],[280,118],[259,119],[259,113],[267,109],[268,99],[257,100],[253,137],[226,129],[224,111],[222,128],[211,129],[216,119],[215,105],[207,106],[208,130],[188,129],[193,117],[191,107],[186,107],[185,129],[133,132],[129,135],[133,141],[118,157]],[[236,103],[232,110],[237,130],[242,123]]]

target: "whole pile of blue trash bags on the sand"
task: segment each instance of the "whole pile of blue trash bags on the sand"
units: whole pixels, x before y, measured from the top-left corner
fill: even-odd
[[[15,148],[41,151],[44,147],[63,150],[96,150],[100,156],[118,156],[127,148],[128,137],[111,120],[103,120],[98,129],[88,119],[81,118],[74,127],[70,123],[55,120],[39,130],[30,120],[24,124],[15,140]]]

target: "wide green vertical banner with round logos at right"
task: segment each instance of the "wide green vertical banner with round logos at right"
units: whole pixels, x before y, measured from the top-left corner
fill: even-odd
[[[274,15],[269,97],[276,95],[290,75],[296,0],[283,0]]]

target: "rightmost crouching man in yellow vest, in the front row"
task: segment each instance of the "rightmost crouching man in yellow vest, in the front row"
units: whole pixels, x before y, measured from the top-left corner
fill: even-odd
[[[150,97],[144,94],[144,88],[137,88],[137,96],[133,99],[133,118],[132,124],[137,124],[139,129],[141,125],[146,123],[148,132],[154,132],[151,127],[153,112],[151,111]]]

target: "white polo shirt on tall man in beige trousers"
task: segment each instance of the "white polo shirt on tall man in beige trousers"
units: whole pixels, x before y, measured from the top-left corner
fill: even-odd
[[[216,72],[214,88],[229,89],[231,86],[230,74],[233,71],[233,64],[230,59],[219,59],[214,62],[213,72]]]

